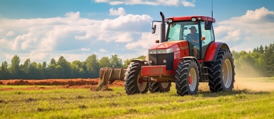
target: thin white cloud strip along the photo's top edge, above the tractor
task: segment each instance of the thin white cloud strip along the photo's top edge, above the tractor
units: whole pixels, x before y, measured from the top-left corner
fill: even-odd
[[[118,5],[118,4],[126,4],[126,5],[145,4],[145,5],[164,5],[164,6],[183,5],[182,0],[94,0],[94,1],[109,3],[110,5]],[[188,3],[190,5],[194,5],[194,1],[188,2]]]

